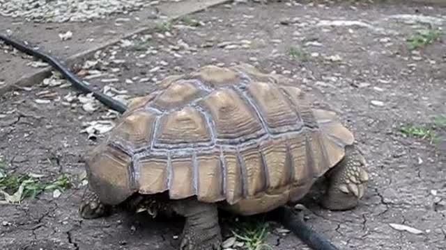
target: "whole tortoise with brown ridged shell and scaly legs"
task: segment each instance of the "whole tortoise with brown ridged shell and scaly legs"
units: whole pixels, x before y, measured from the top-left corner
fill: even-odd
[[[297,202],[324,176],[321,205],[348,210],[369,180],[336,113],[312,107],[293,79],[247,63],[157,81],[157,91],[132,99],[88,153],[86,172],[83,218],[144,197],[154,213],[185,217],[180,249],[187,250],[219,249],[219,209],[266,213]]]

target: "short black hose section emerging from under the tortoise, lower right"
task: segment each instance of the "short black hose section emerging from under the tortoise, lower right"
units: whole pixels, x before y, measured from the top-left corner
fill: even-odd
[[[339,250],[310,228],[292,208],[283,206],[274,211],[276,219],[314,250]],[[302,212],[300,212],[302,213]]]

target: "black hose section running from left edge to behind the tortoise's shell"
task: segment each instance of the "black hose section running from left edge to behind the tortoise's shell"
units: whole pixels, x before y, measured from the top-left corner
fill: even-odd
[[[101,103],[111,108],[112,110],[116,110],[119,113],[124,113],[125,110],[127,110],[127,107],[123,103],[121,103],[121,101],[117,101],[112,97],[107,96],[107,94],[103,94],[102,92],[95,92],[89,85],[86,85],[79,77],[70,72],[66,65],[63,65],[59,60],[56,60],[56,58],[49,56],[46,53],[37,51],[36,49],[33,49],[31,47],[28,47],[22,42],[18,42],[3,34],[0,34],[0,40],[3,40],[6,44],[9,44],[15,49],[22,51],[23,53],[39,58],[45,63],[52,65],[53,67],[58,69],[59,72],[61,72],[61,74],[65,76],[65,78],[70,81],[72,85],[75,86],[75,88],[86,94],[93,93],[93,96],[96,99],[98,99]]]

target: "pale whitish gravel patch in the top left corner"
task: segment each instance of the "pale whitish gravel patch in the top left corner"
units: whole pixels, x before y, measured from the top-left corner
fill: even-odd
[[[178,0],[0,0],[0,15],[28,22],[86,22]],[[180,0],[182,1],[182,0]]]

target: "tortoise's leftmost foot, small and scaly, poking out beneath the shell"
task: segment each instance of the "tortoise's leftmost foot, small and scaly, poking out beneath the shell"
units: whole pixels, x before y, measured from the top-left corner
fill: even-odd
[[[107,208],[108,206],[99,201],[98,195],[87,188],[79,204],[79,215],[84,219],[103,217],[107,213]]]

